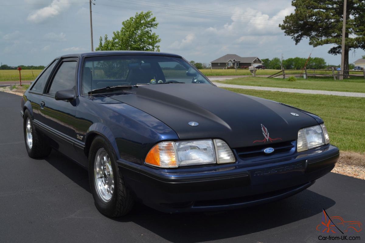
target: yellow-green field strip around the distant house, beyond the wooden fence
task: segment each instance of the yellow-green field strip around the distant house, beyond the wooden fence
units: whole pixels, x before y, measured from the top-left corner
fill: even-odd
[[[252,75],[251,72],[248,69],[199,69],[205,76],[233,76],[233,75]],[[256,75],[273,75],[277,73],[280,70],[276,69],[258,69],[256,70]],[[290,71],[285,70],[285,74],[300,74],[301,71]],[[304,71],[303,71],[304,73]],[[330,74],[332,75],[332,70],[328,71],[318,71],[318,70],[307,70],[308,74]],[[362,72],[351,72],[350,74],[358,74],[362,75]],[[364,77],[364,76],[362,76]]]

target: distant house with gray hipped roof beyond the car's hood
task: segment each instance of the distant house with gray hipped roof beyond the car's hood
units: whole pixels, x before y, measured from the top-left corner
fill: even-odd
[[[262,65],[262,61],[257,56],[250,56],[250,57],[241,57],[236,54],[227,54],[221,56],[214,61],[211,61],[212,69],[225,69],[227,67],[249,67],[249,66],[257,66]]]

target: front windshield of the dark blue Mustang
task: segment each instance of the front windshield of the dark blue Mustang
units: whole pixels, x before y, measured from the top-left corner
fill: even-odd
[[[85,58],[82,94],[108,86],[163,83],[208,83],[182,58],[152,55],[96,56]]]

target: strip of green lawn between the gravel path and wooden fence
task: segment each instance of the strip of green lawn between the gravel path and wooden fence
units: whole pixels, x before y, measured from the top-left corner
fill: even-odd
[[[329,90],[365,93],[365,81],[361,78],[351,78],[345,81],[334,81],[330,78],[300,78],[296,81],[288,81],[282,78],[245,77],[214,81],[231,85],[249,85],[262,87],[278,87],[290,89]]]

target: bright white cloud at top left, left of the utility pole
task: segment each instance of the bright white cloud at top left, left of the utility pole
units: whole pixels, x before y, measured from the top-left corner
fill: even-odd
[[[69,0],[53,0],[49,6],[38,9],[28,15],[27,19],[32,22],[39,23],[50,17],[59,15],[59,13],[69,8],[69,5]]]

